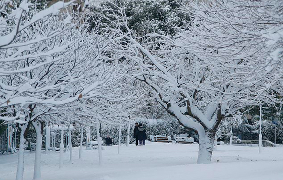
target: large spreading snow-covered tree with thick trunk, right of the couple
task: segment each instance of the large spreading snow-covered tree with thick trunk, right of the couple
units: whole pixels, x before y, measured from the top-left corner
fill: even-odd
[[[123,37],[117,48],[131,60],[132,75],[152,88],[167,112],[182,126],[198,132],[198,163],[210,162],[215,135],[224,118],[245,106],[281,101],[269,90],[282,93],[278,90],[281,74],[273,74],[264,64],[272,47],[261,37],[266,24],[257,18],[257,4],[186,4],[182,11],[191,21],[185,22],[176,36],[148,34],[148,39],[154,40],[143,42],[129,28],[125,7],[115,5],[118,13],[113,17],[118,27],[113,31]],[[279,66],[272,69],[280,71]]]

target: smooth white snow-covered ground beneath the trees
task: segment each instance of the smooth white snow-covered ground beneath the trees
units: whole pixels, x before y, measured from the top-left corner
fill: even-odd
[[[105,147],[103,165],[98,151],[83,149],[78,159],[73,148],[73,163],[64,153],[64,167],[59,169],[59,153],[43,151],[42,180],[138,180],[138,179],[283,179],[283,147],[218,146],[211,164],[196,164],[198,145],[146,142],[146,146]],[[24,179],[32,179],[34,152],[25,153]],[[0,180],[15,179],[17,154],[0,155]]]

